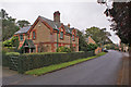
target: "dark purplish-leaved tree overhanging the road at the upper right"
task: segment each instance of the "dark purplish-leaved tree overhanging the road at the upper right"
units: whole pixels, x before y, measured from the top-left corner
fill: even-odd
[[[98,0],[98,3],[107,5],[108,2]],[[124,0],[124,2],[112,2],[112,8],[109,9],[107,5],[104,13],[106,16],[111,17],[111,29],[117,32],[121,42],[129,44],[131,47],[131,1]]]

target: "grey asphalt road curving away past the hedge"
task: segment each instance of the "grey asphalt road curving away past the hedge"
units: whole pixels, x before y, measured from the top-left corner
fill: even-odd
[[[21,76],[15,85],[116,85],[122,65],[122,53],[110,50],[107,54],[41,76]],[[27,76],[27,77],[26,77]],[[3,82],[4,83],[4,82]],[[9,84],[9,83],[8,83]]]

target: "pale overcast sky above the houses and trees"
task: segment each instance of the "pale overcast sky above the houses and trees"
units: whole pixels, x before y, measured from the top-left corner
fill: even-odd
[[[1,0],[0,8],[16,20],[27,20],[33,24],[38,15],[53,20],[53,12],[59,11],[60,21],[71,27],[85,30],[92,26],[107,28],[112,35],[110,39],[119,42],[119,38],[110,30],[107,17],[104,14],[105,5],[96,0]]]

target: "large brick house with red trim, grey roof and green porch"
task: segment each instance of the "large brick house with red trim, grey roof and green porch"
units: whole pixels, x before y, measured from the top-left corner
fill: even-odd
[[[38,16],[32,26],[21,28],[14,36],[19,36],[19,49],[24,53],[56,52],[61,46],[79,51],[78,30],[60,23],[59,11],[53,13],[53,21]]]

